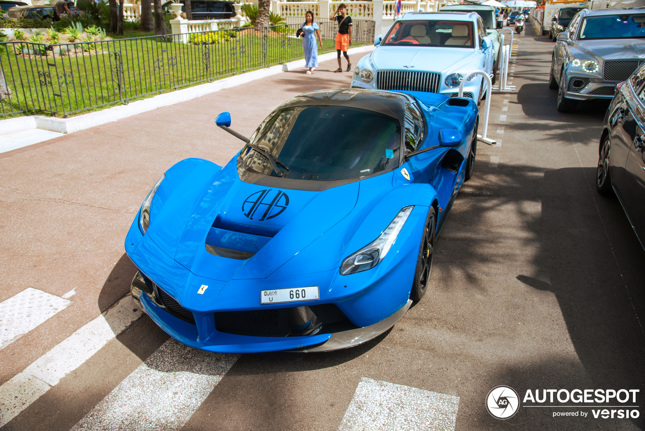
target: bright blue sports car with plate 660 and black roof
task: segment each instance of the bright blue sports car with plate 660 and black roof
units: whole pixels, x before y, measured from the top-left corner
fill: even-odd
[[[132,296],[211,352],[317,352],[391,328],[428,288],[435,238],[473,174],[478,109],[333,89],[276,108],[224,167],[186,159],[126,236]]]

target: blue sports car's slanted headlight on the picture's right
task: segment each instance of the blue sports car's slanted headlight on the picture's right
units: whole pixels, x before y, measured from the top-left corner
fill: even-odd
[[[401,228],[408,219],[408,216],[410,216],[412,208],[414,206],[406,206],[399,211],[399,214],[394,217],[392,223],[388,225],[377,239],[342,261],[341,276],[368,270],[378,265],[390,251],[392,244],[397,239],[397,235],[399,235]]]

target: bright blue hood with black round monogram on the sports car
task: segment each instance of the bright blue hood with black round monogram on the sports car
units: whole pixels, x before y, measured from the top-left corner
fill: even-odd
[[[193,181],[197,192],[181,184],[171,191],[160,187],[167,196],[160,197],[161,208],[151,211],[150,239],[197,276],[219,281],[268,277],[356,204],[359,181],[322,191],[285,188],[289,181],[282,187],[246,183],[235,159],[217,174],[204,175],[203,184]],[[186,193],[193,194],[190,200]],[[218,238],[221,243],[212,241]],[[248,251],[244,246],[253,243],[256,249],[248,259],[232,259],[208,252],[207,242],[236,251]]]

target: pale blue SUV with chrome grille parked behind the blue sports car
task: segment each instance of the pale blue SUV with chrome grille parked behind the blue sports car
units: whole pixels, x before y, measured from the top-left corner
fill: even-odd
[[[456,97],[462,78],[473,70],[491,75],[493,42],[475,12],[412,12],[396,21],[377,48],[362,57],[352,88],[431,92]],[[464,97],[481,101],[486,82],[473,75]]]

